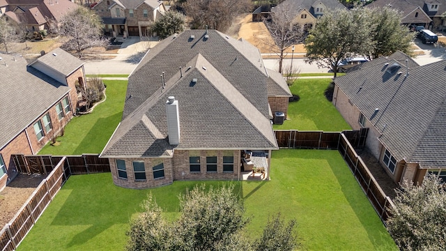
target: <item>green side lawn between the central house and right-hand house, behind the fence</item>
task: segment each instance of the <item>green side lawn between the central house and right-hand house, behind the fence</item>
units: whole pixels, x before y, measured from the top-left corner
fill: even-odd
[[[351,129],[336,107],[324,96],[332,79],[298,79],[291,92],[300,96],[299,101],[289,103],[288,118],[283,125],[274,125],[275,130],[323,130],[340,132]]]

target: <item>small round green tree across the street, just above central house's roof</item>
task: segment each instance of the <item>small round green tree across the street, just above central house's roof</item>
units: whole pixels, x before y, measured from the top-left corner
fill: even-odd
[[[185,16],[176,11],[168,11],[153,24],[153,31],[161,38],[167,38],[174,33],[180,33],[184,30]]]

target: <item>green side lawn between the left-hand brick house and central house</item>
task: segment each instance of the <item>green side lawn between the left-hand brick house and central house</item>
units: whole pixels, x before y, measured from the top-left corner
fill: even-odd
[[[127,81],[104,80],[107,100],[95,107],[91,114],[73,118],[58,137],[58,146],[47,144],[40,155],[75,155],[100,153],[121,121]]]

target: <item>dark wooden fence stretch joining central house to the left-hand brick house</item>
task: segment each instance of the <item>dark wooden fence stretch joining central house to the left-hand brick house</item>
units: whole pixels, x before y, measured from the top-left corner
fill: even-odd
[[[21,174],[48,174],[54,164],[66,158],[67,176],[72,174],[95,174],[110,172],[108,158],[99,158],[97,154],[52,156],[52,155],[11,155],[17,171]]]

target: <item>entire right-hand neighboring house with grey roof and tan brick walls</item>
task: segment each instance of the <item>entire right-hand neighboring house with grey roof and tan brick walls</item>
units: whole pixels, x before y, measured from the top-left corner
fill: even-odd
[[[406,61],[407,60],[407,61]],[[402,52],[334,79],[333,105],[395,183],[446,181],[446,61],[418,66]]]

